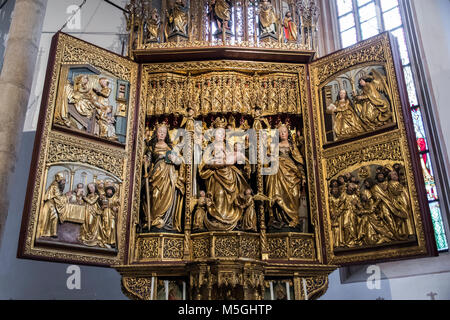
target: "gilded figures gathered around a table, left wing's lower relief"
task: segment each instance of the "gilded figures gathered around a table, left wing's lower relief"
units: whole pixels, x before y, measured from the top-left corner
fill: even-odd
[[[86,188],[78,183],[75,190],[64,193],[65,184],[64,174],[57,173],[46,190],[36,239],[58,238],[58,225],[71,221],[71,216],[76,214],[84,219],[78,236],[80,243],[90,247],[116,247],[120,209],[118,185],[98,180]]]

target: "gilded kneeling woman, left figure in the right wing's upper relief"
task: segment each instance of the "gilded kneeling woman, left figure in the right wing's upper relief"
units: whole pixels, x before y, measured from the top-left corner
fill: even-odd
[[[364,125],[353,109],[346,90],[339,91],[334,104],[327,108],[327,113],[335,116],[333,123],[336,139],[343,139],[365,132]]]

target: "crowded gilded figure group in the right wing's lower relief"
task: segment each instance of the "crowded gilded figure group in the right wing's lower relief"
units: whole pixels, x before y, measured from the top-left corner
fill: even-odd
[[[334,248],[352,248],[407,241],[415,234],[405,169],[378,166],[330,182],[329,206]],[[361,186],[360,186],[361,185]]]

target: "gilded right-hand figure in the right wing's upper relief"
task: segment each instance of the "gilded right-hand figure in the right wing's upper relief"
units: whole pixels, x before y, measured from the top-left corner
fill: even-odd
[[[372,69],[369,76],[359,79],[361,94],[353,93],[356,110],[366,128],[374,130],[392,122],[391,103],[389,102],[389,87],[386,77],[376,69]],[[384,93],[388,98],[385,98]]]

